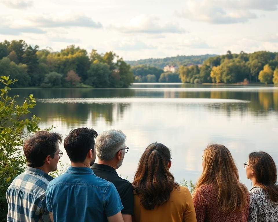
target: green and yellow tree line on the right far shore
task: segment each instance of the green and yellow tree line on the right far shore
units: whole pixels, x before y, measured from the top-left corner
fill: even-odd
[[[261,82],[278,84],[278,53],[258,51],[254,53],[214,56],[202,66],[181,65],[179,74],[182,83],[238,83]]]

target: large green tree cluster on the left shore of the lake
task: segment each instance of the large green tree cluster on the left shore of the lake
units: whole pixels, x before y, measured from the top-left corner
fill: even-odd
[[[67,46],[39,50],[24,40],[0,42],[0,75],[18,79],[16,87],[128,87],[134,77],[123,58],[109,51]]]

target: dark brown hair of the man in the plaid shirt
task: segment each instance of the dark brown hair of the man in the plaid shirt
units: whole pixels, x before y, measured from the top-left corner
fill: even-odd
[[[25,139],[23,152],[30,167],[40,167],[45,164],[45,158],[50,155],[54,158],[56,143],[61,144],[63,137],[61,134],[48,131],[38,131]]]

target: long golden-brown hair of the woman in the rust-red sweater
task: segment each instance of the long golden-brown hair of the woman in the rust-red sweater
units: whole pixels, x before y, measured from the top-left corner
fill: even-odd
[[[238,170],[230,151],[223,145],[209,145],[204,150],[203,158],[204,169],[193,196],[201,186],[214,184],[217,187],[219,212],[239,212],[246,208],[249,205],[248,190],[239,182]]]

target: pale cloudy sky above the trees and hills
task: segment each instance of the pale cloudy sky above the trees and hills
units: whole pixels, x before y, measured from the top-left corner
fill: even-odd
[[[0,0],[0,42],[125,60],[278,51],[278,0]]]

